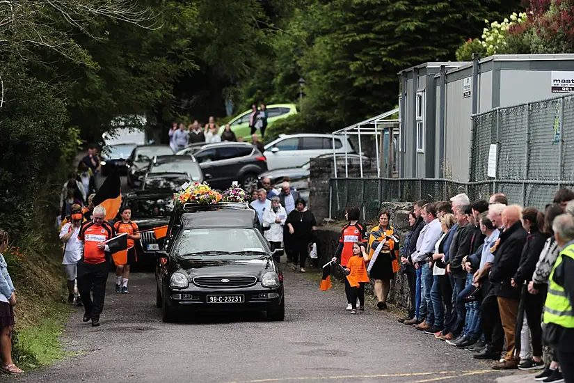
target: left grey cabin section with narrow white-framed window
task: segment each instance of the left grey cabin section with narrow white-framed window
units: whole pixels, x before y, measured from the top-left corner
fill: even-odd
[[[436,177],[438,141],[435,75],[440,68],[457,68],[467,63],[424,63],[399,72],[399,177]]]

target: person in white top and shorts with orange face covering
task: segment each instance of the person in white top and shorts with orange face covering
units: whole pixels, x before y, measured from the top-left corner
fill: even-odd
[[[76,288],[77,264],[81,258],[81,243],[78,234],[83,221],[81,212],[72,212],[72,221],[64,224],[60,230],[60,240],[64,243],[64,257],[62,265],[66,272],[67,302],[74,302]]]

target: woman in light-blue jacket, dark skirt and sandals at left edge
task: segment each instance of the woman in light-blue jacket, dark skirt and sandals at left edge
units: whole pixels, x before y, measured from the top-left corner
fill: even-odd
[[[8,265],[2,253],[8,248],[10,237],[6,230],[0,229],[0,370],[8,374],[21,374],[12,360],[12,329],[14,327],[14,306],[16,289],[8,274]]]

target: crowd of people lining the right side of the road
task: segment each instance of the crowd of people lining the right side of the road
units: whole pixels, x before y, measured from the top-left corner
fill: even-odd
[[[333,261],[350,270],[362,248],[378,309],[387,307],[400,270],[410,310],[399,322],[493,360],[495,369],[543,370],[534,379],[574,382],[574,279],[567,277],[574,275],[574,192],[560,189],[544,212],[509,205],[504,194],[417,201],[402,244],[388,212],[368,237],[357,208],[346,216]],[[356,313],[358,288],[345,283],[346,309]]]

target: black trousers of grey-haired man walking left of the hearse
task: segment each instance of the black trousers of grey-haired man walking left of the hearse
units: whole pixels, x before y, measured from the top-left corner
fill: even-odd
[[[91,318],[99,319],[99,314],[104,309],[108,269],[107,262],[97,265],[81,260],[78,262],[78,290],[86,315]]]

